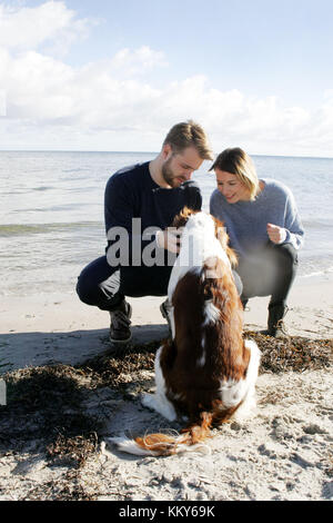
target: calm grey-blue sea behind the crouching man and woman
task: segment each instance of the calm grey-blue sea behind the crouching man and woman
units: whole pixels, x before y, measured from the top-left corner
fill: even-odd
[[[77,277],[105,247],[103,195],[118,169],[142,152],[0,151],[0,295],[73,293]],[[252,157],[259,176],[293,191],[305,228],[300,277],[333,272],[333,159]],[[209,209],[210,162],[193,175]]]

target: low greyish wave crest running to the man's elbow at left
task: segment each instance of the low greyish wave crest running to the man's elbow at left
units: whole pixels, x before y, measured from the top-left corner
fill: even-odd
[[[62,224],[8,224],[0,225],[0,237],[26,236],[43,233],[103,227],[101,221],[74,221]]]

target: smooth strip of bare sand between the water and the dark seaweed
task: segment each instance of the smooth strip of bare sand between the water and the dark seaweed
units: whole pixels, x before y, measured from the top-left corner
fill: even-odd
[[[160,313],[163,297],[128,298],[132,305],[132,342],[168,337]],[[266,328],[269,297],[249,300],[244,332]],[[291,336],[333,337],[333,278],[296,278],[284,318]],[[81,303],[77,294],[7,296],[0,306],[0,375],[31,365],[75,365],[110,347],[107,312]]]

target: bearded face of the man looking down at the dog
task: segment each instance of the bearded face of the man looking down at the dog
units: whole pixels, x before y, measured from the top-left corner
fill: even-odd
[[[172,188],[189,180],[193,171],[199,169],[203,162],[195,147],[186,147],[181,152],[173,152],[171,146],[167,144],[163,148],[163,155],[165,159],[162,165],[162,176]]]

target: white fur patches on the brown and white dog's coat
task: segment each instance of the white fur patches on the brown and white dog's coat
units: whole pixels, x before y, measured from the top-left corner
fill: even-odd
[[[182,235],[182,247],[176,262],[173,266],[168,296],[169,302],[172,304],[173,294],[178,286],[178,283],[189,272],[199,274],[209,258],[219,258],[223,262],[225,270],[231,270],[230,260],[226,253],[222,248],[221,243],[215,236],[215,226],[212,217],[204,214],[198,213],[190,216],[186,226],[184,227]],[[220,309],[211,302],[208,300],[204,309],[204,323],[203,327],[208,324],[216,324],[220,318]],[[175,337],[175,322],[174,322],[174,309],[170,310],[171,330],[172,338]],[[234,412],[233,417],[236,420],[244,420],[252,414],[255,407],[255,382],[258,378],[258,369],[260,364],[260,351],[253,341],[245,341],[245,347],[250,351],[250,362],[244,378],[241,379],[226,379],[221,381],[219,393],[223,405],[229,407],[240,406]],[[204,330],[201,341],[202,354],[196,359],[196,367],[200,371],[206,362],[206,347]],[[154,394],[143,394],[142,405],[157,411],[169,422],[176,420],[176,411],[172,404],[172,391],[169,391],[169,398],[167,397],[167,384],[163,376],[163,372],[160,365],[160,358],[163,351],[163,346],[159,348],[155,356],[155,392]],[[241,357],[241,354],[240,354]],[[176,399],[176,398],[175,398]],[[183,436],[180,435],[175,438],[176,443],[181,442]],[[138,455],[158,455],[153,448],[141,448],[134,441],[128,438],[111,438],[113,443],[117,443],[118,447],[124,452],[129,452]],[[184,446],[184,445],[183,445]],[[199,448],[204,448],[205,445],[199,444]],[[198,445],[193,445],[192,450],[198,448]],[[186,447],[186,450],[190,450]],[[175,452],[183,452],[184,448],[178,447]]]

